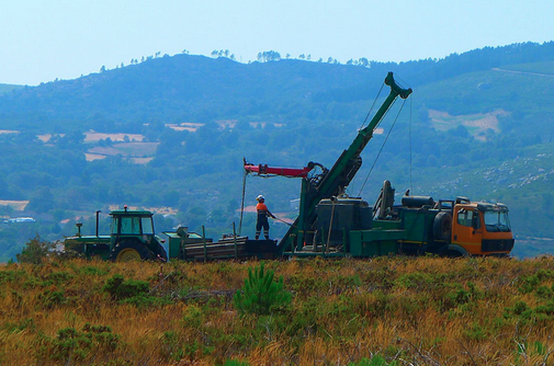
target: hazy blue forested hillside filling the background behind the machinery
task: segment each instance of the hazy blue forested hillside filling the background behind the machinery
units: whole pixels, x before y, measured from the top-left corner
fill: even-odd
[[[183,54],[38,87],[0,85],[0,218],[35,219],[0,224],[0,261],[35,233],[59,239],[75,233],[75,221],[125,204],[163,213],[158,231],[182,224],[229,232],[242,157],[331,167],[388,71],[414,93],[365,148],[349,193],[372,204],[387,179],[400,194],[500,201],[519,242],[551,243],[554,42],[400,64],[276,58]],[[296,180],[249,179],[246,199],[264,193],[272,211],[294,218],[298,192]],[[252,220],[245,217],[242,233],[252,233]],[[274,225],[272,235],[285,229]],[[549,245],[516,250],[535,255],[553,252]]]

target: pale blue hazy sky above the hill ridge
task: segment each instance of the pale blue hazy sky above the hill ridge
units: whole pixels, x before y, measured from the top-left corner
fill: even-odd
[[[346,62],[554,39],[552,0],[0,0],[0,83],[38,84],[183,49]]]

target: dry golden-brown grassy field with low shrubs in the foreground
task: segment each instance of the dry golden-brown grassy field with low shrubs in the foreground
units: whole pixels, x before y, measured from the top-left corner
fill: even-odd
[[[265,262],[292,302],[237,312],[259,262],[0,267],[2,365],[552,365],[554,259]]]

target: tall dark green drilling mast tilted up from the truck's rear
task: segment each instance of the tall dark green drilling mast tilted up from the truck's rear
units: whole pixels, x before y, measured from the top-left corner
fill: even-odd
[[[281,252],[294,249],[301,250],[305,242],[309,242],[313,236],[314,224],[317,219],[315,213],[316,205],[324,198],[330,198],[343,192],[362,164],[360,155],[373,137],[375,128],[396,98],[407,99],[411,94],[411,89],[403,89],[396,83],[393,72],[388,72],[386,76],[385,84],[391,87],[388,96],[375,113],[370,124],[358,131],[350,147],[341,153],[333,167],[326,171],[317,181],[302,180],[299,214],[294,225],[279,243]]]

